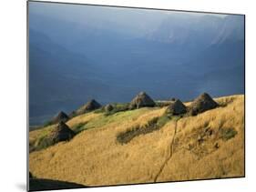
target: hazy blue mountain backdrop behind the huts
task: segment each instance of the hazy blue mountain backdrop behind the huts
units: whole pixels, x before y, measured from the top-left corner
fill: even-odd
[[[234,78],[221,77],[244,76],[243,26],[232,16],[159,16],[159,25],[136,34],[111,19],[75,23],[30,15],[30,116],[71,111],[92,97],[127,102],[140,90],[159,99],[189,99],[202,82],[218,84],[218,76],[227,82],[210,90],[213,96],[242,94],[243,82],[234,87]]]

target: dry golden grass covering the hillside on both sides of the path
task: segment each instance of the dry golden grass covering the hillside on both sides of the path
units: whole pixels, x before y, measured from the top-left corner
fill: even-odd
[[[90,128],[69,142],[58,143],[56,146],[31,153],[29,168],[36,177],[86,186],[147,183],[154,182],[155,179],[176,181],[242,177],[243,99],[244,96],[216,98],[221,105],[227,106],[218,107],[199,116],[181,118],[177,123],[176,134],[176,122],[170,120],[158,131],[137,136],[126,145],[117,142],[118,133],[128,130],[131,126],[145,125],[155,116],[162,116],[165,107],[141,108],[112,116],[94,113],[77,116],[67,124],[75,126],[88,121],[87,126]],[[224,140],[220,133],[222,129],[227,128],[233,128],[237,134],[229,140]],[[203,141],[199,143],[199,137],[207,132],[206,129],[212,133],[204,136]],[[31,139],[36,136],[38,135],[35,132],[30,132]],[[168,157],[169,161],[166,162]],[[165,162],[166,166],[159,172]],[[158,174],[159,177],[156,178]]]

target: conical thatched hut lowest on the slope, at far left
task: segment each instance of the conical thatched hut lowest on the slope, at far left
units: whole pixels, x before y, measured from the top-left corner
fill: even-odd
[[[64,122],[60,122],[55,130],[51,134],[51,139],[54,143],[59,141],[67,141],[75,136],[74,131],[72,131]]]

